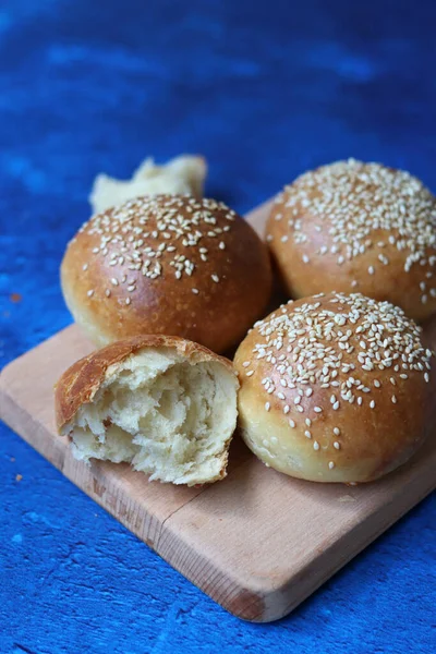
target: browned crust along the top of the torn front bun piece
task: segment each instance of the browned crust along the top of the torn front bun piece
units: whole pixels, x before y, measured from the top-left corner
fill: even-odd
[[[93,401],[101,384],[108,376],[117,373],[117,368],[128,356],[146,348],[170,348],[191,364],[217,361],[234,374],[233,365],[228,359],[215,354],[204,346],[175,336],[145,335],[110,343],[76,361],[59,379],[55,393],[59,433],[83,404]],[[235,383],[238,384],[238,379]]]

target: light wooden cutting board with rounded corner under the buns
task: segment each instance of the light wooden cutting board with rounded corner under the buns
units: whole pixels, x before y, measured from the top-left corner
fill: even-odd
[[[247,216],[263,230],[269,204]],[[426,329],[436,342],[436,327]],[[75,461],[56,436],[53,384],[93,347],[71,326],[8,365],[0,416],[87,495],[227,610],[276,620],[436,487],[436,439],[378,482],[292,480],[237,437],[229,475],[208,487],[148,482],[126,464]]]

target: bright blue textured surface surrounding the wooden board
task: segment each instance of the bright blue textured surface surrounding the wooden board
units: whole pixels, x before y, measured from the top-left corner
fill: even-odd
[[[204,153],[207,192],[241,211],[350,155],[435,190],[435,25],[433,0],[3,0],[0,363],[70,322],[58,267],[98,171]],[[435,496],[255,626],[3,425],[0,475],[0,654],[436,652]]]

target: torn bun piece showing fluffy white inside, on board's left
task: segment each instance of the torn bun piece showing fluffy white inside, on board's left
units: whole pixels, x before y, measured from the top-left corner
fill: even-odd
[[[62,375],[57,425],[78,460],[124,461],[173,484],[215,482],[226,476],[238,387],[231,362],[197,343],[131,338]]]

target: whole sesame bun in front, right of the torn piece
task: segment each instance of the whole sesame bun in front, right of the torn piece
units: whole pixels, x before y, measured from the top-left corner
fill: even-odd
[[[370,482],[416,451],[434,415],[432,352],[401,308],[359,293],[289,302],[239,347],[239,421],[267,465]]]

